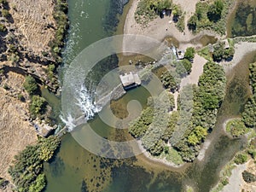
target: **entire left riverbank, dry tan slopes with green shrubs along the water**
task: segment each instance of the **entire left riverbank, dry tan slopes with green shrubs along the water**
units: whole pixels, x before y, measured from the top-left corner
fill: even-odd
[[[67,29],[67,4],[58,3],[61,5],[51,0],[0,3],[1,12],[6,13],[0,20],[5,27],[0,32],[0,177],[9,183],[12,181],[8,169],[15,155],[38,142],[35,124],[40,122],[41,126],[42,122],[42,127],[49,127],[50,106],[45,104],[44,118],[38,119],[32,118],[31,107],[33,96],[44,101],[39,85],[48,86],[53,92],[58,89],[56,67],[61,62],[60,49]],[[57,43],[57,38],[61,42]],[[27,75],[35,79],[37,87],[30,95],[24,87]]]

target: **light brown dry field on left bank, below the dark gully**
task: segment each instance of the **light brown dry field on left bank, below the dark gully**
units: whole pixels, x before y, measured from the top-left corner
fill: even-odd
[[[7,79],[1,77],[1,85],[8,85],[9,90],[0,87],[0,177],[9,180],[8,168],[15,154],[35,143],[37,135],[28,121],[28,104],[17,98],[24,77],[11,72],[7,75]]]

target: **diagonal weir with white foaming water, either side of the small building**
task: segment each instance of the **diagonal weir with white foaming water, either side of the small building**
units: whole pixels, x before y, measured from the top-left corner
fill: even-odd
[[[135,73],[138,74],[139,78],[142,79],[142,82],[146,82],[148,79],[148,75],[152,73],[151,71],[157,67],[166,67],[174,60],[177,60],[177,57],[174,56],[175,53],[172,47],[169,47],[165,50],[165,52],[161,55],[160,61],[154,62],[151,67],[137,67],[135,68]],[[117,73],[117,72],[115,72]],[[117,78],[119,75],[117,76]],[[101,82],[102,83],[102,82]],[[76,98],[77,102],[75,103],[79,106],[83,115],[74,118],[69,113],[67,117],[61,115],[61,120],[66,125],[63,130],[65,131],[73,131],[73,129],[77,125],[81,125],[86,123],[89,119],[92,119],[96,113],[99,113],[104,106],[108,104],[111,100],[118,100],[120,97],[124,96],[126,91],[123,88],[123,85],[119,81],[115,87],[113,84],[108,84],[103,81],[102,84],[98,85],[96,91],[87,90],[87,88],[82,85],[79,88],[78,98]],[[111,90],[109,90],[111,89]]]

